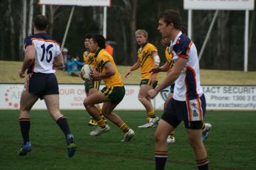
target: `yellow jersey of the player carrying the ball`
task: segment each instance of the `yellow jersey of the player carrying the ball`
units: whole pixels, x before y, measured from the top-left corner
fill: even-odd
[[[115,65],[115,61],[113,60],[113,57],[105,50],[105,49],[98,49],[97,52],[95,52],[95,63],[96,63],[96,70],[100,73],[104,73],[106,69],[104,68],[104,65],[106,63],[111,63],[115,69],[115,74],[103,78],[103,81],[107,87],[121,87],[124,86],[123,80],[121,79],[121,75],[118,72],[118,68]]]

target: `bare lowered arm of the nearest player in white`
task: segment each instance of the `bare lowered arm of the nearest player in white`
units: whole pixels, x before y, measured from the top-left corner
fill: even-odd
[[[178,79],[178,77],[180,76],[181,71],[183,70],[185,65],[186,65],[186,58],[180,57],[175,63],[175,65],[172,67],[172,71],[170,72],[170,74],[167,74],[164,81],[160,85],[158,85],[158,87],[148,92],[149,96],[151,98],[154,98],[159,91],[163,90],[169,85],[172,85],[175,82],[175,80]]]

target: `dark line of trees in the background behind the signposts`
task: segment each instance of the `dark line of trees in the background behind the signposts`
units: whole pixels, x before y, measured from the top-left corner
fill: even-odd
[[[46,15],[50,21],[47,33],[59,43],[63,39],[70,6],[49,5]],[[175,0],[113,0],[107,8],[107,40],[115,49],[115,62],[118,65],[132,65],[137,60],[138,46],[135,30],[146,29],[149,42],[158,47],[161,63],[164,59],[164,46],[157,31],[158,15],[164,10],[179,10],[183,25],[187,26],[188,12],[183,10],[183,1]],[[41,13],[36,0],[1,0],[0,3],[0,60],[18,61],[24,58],[23,39],[33,32],[33,16]],[[194,10],[192,15],[192,40],[198,53],[206,38],[206,33],[215,11]],[[256,71],[255,10],[249,12],[249,71]],[[244,11],[221,10],[218,13],[206,49],[201,58],[201,68],[243,70]],[[101,33],[103,7],[75,7],[70,29],[65,42],[70,55],[80,56],[84,52],[84,35]]]

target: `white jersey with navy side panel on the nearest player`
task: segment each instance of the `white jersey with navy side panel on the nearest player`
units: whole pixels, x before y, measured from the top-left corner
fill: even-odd
[[[172,60],[186,58],[186,66],[175,81],[173,99],[178,101],[197,101],[203,94],[200,85],[198,52],[195,44],[186,35],[178,33],[169,47],[173,54]]]

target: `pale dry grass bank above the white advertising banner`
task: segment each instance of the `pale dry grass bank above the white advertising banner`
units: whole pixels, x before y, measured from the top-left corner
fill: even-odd
[[[22,62],[1,61],[0,60],[0,82],[24,82],[25,79],[18,77],[18,71],[21,69]],[[118,65],[118,71],[124,81],[124,84],[139,84],[141,82],[141,74],[139,69],[132,71],[127,79],[124,75],[129,70],[129,66]],[[56,76],[59,83],[82,83],[79,77],[70,77],[65,71],[57,71]],[[166,77],[165,73],[160,74],[159,82]],[[202,85],[256,85],[256,71],[218,71],[201,69]]]

